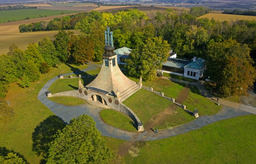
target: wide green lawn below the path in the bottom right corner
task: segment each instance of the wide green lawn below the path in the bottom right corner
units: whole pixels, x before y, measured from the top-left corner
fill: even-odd
[[[256,162],[256,115],[209,124],[174,137],[138,142],[139,155],[125,156],[127,164],[221,164]]]

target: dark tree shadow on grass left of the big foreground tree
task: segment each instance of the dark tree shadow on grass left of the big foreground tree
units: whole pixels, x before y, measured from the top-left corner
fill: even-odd
[[[36,152],[37,156],[42,154],[44,157],[49,150],[49,143],[54,140],[53,135],[65,126],[64,121],[56,115],[49,116],[38,124],[32,133],[32,151]]]

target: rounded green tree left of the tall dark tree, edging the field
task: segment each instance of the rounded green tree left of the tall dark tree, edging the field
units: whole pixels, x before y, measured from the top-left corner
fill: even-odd
[[[42,57],[44,58],[44,61],[50,66],[56,65],[58,61],[57,51],[50,38],[46,36],[40,39],[40,41],[38,42],[38,46],[39,51],[42,54]]]

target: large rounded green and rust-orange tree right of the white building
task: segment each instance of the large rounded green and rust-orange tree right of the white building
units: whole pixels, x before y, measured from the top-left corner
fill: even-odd
[[[253,85],[256,70],[249,53],[246,44],[232,39],[208,46],[207,74],[220,95],[246,95],[248,87]]]

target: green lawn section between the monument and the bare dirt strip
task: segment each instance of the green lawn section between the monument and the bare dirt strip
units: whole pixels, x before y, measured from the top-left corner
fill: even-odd
[[[171,102],[145,89],[140,89],[123,101],[142,123],[148,122],[154,115],[166,109]]]

